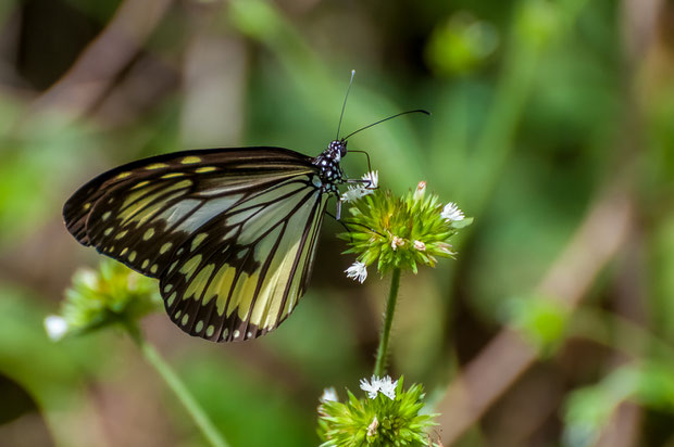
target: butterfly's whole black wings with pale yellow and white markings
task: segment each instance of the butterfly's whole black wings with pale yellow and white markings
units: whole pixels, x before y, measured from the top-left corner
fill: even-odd
[[[160,155],[95,178],[63,215],[80,243],[159,278],[184,331],[257,337],[310,276],[327,201],[311,159],[280,148]]]

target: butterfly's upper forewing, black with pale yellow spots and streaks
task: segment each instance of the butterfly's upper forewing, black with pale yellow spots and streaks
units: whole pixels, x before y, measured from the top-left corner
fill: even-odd
[[[95,178],[65,203],[68,231],[130,268],[159,278],[178,247],[237,203],[315,171],[282,148],[185,151],[137,161]]]

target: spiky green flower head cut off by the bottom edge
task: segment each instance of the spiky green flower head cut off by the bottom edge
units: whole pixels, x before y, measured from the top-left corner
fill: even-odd
[[[420,414],[424,407],[422,385],[402,389],[402,378],[373,376],[362,380],[361,388],[369,397],[358,399],[347,391],[348,399],[340,403],[334,389],[325,393],[319,406],[321,447],[351,446],[428,446],[425,430],[435,425],[435,414]]]

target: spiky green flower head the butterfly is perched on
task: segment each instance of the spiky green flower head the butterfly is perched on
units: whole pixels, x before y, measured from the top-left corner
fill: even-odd
[[[427,194],[424,181],[402,197],[382,189],[357,192],[351,191],[351,217],[345,220],[351,231],[339,238],[350,245],[346,253],[358,255],[347,276],[360,282],[374,263],[380,274],[394,268],[416,273],[419,265],[434,267],[438,257],[452,257],[450,238],[473,221],[454,203],[444,205]]]

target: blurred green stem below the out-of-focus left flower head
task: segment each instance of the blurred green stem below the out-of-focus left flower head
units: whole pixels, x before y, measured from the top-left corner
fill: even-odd
[[[185,384],[178,378],[178,374],[164,361],[154,347],[148,344],[138,328],[127,327],[129,335],[145,356],[146,360],[159,372],[168,387],[175,393],[180,403],[185,406],[187,412],[191,416],[197,426],[203,433],[203,436],[214,447],[228,447],[222,434],[215,429],[213,422],[209,419],[203,408],[197,403],[195,397],[189,393]]]

